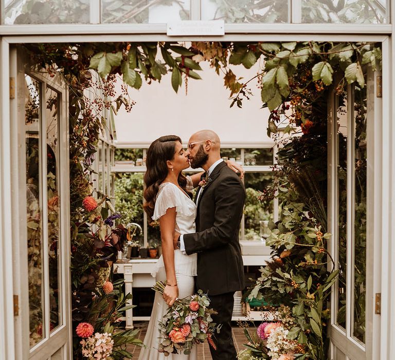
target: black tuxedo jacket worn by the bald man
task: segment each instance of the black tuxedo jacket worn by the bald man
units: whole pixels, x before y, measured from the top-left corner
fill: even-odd
[[[220,295],[244,289],[239,230],[245,190],[224,162],[210,179],[197,190],[196,232],[185,234],[184,244],[188,255],[197,253],[197,289]]]

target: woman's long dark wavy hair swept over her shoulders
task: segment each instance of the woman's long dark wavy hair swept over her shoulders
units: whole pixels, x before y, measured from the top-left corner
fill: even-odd
[[[163,183],[169,172],[166,162],[174,158],[176,141],[182,143],[181,138],[176,135],[161,136],[148,149],[146,158],[147,171],[144,175],[146,189],[143,193],[146,202],[143,207],[147,212],[149,221],[154,214],[159,185]],[[181,172],[178,175],[178,185],[186,191],[187,178]]]

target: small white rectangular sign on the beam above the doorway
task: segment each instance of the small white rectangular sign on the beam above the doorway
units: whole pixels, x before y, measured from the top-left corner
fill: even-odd
[[[225,35],[225,24],[223,20],[175,21],[167,23],[167,35]]]

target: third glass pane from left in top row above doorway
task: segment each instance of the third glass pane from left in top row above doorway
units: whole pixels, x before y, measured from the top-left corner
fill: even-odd
[[[287,23],[289,0],[202,0],[202,20],[225,23]]]

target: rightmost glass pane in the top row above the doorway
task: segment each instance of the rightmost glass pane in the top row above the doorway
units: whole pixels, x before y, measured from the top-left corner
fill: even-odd
[[[302,0],[302,23],[386,23],[386,0]]]

